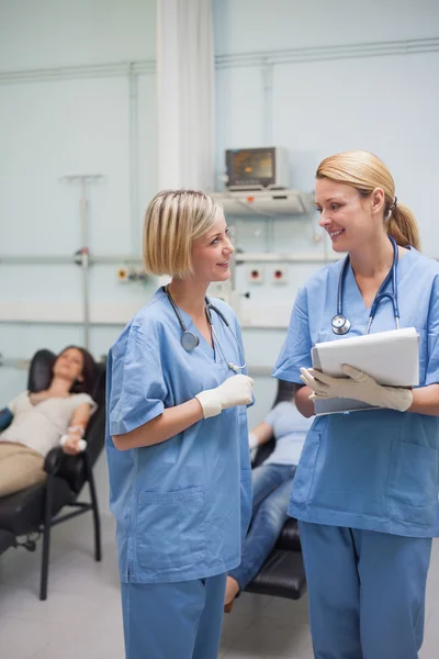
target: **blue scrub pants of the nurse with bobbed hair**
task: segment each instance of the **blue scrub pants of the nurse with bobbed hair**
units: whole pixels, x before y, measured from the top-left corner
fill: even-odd
[[[226,574],[122,583],[126,659],[217,659]]]

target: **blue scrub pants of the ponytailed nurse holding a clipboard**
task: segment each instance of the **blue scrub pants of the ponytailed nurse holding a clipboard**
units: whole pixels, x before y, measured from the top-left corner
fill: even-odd
[[[417,659],[431,538],[299,522],[315,659]]]

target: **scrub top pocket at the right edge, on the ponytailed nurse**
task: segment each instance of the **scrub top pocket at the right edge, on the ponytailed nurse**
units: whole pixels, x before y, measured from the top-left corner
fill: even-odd
[[[438,514],[438,451],[394,440],[385,498],[392,520],[428,526]]]

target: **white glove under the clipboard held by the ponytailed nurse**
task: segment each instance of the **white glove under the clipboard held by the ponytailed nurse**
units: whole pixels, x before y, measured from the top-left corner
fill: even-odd
[[[309,399],[317,401],[328,398],[347,398],[398,412],[405,412],[413,403],[410,389],[382,387],[373,378],[352,366],[344,365],[342,371],[348,376],[347,378],[333,378],[313,368],[301,368],[302,382],[314,392]]]

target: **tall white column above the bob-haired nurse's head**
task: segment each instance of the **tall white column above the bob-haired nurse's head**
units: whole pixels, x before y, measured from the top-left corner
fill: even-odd
[[[212,0],[158,0],[159,189],[214,190]]]

